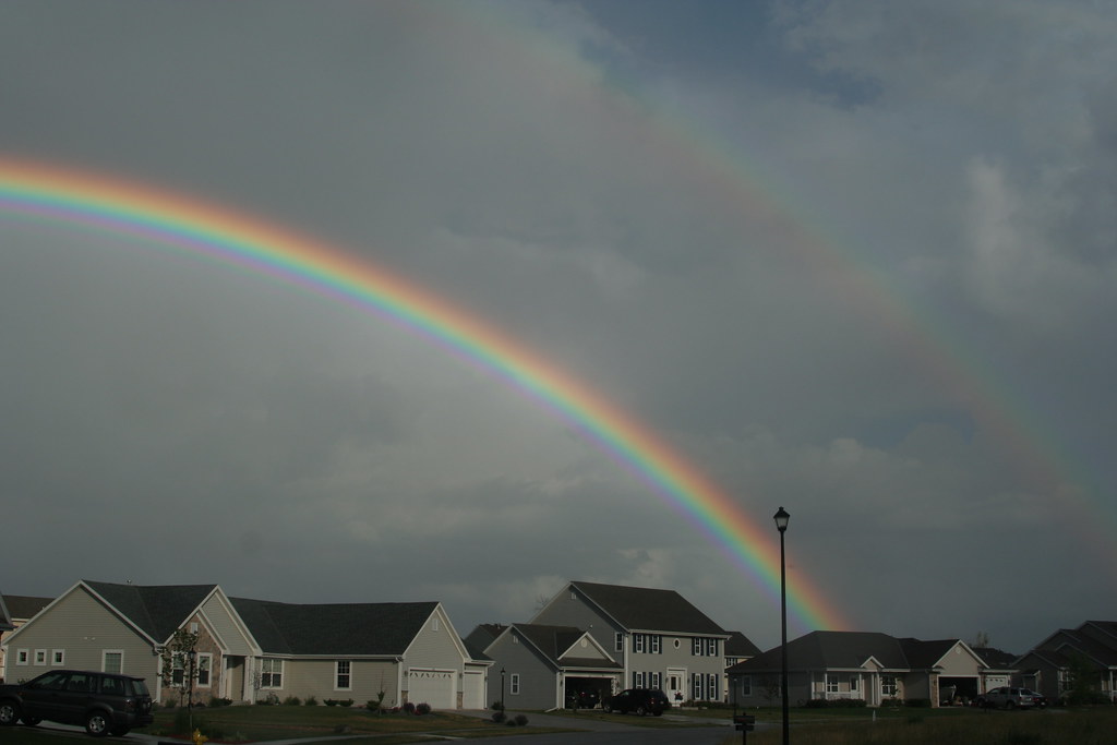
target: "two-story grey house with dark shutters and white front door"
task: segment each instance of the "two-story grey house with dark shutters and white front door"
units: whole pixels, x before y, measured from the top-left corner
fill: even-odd
[[[723,700],[731,634],[674,590],[570,582],[531,622],[586,631],[620,666],[610,693],[648,687],[675,704]]]

